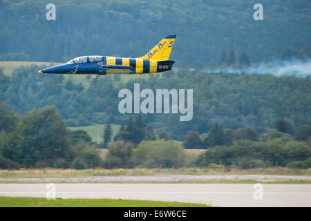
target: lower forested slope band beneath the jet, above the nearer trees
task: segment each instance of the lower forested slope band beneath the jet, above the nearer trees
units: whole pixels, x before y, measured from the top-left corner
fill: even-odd
[[[194,90],[193,119],[180,121],[180,114],[143,114],[144,122],[166,131],[174,140],[184,140],[189,131],[208,133],[222,124],[234,130],[255,128],[265,133],[274,127],[279,117],[285,117],[297,131],[311,124],[311,79],[273,77],[272,75],[232,75],[178,70],[148,78],[120,81],[115,76],[86,77],[86,88],[74,84],[63,75],[39,75],[38,66],[21,66],[12,76],[3,75],[0,68],[0,101],[5,101],[16,113],[23,115],[32,108],[54,105],[68,126],[91,124],[126,124],[129,114],[122,115],[118,104],[122,88],[133,91],[150,88],[192,88]],[[118,76],[118,75],[116,75]],[[142,101],[143,99],[141,99]]]

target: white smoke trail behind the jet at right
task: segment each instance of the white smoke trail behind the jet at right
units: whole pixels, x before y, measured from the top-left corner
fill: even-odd
[[[249,73],[254,75],[271,74],[276,77],[290,75],[294,75],[295,77],[308,77],[311,76],[311,59],[308,59],[307,61],[301,61],[298,59],[292,59],[290,61],[275,60],[267,63],[252,65],[247,68],[205,68],[203,71],[207,73]]]

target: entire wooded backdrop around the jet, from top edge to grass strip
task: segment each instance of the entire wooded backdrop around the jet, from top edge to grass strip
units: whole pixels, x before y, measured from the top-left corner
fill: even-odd
[[[310,169],[310,0],[55,0],[55,20],[48,3],[0,0],[1,169]],[[140,57],[167,35],[177,35],[169,72],[38,73],[83,55]],[[180,121],[180,99],[170,113],[120,113],[120,90],[135,84],[192,90],[193,117]]]

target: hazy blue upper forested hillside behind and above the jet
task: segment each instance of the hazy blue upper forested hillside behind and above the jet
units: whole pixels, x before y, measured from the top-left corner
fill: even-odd
[[[213,64],[231,50],[254,62],[311,57],[308,0],[262,0],[263,21],[253,19],[255,0],[55,0],[55,21],[46,20],[48,3],[0,1],[1,60],[140,57],[172,34],[178,66]]]

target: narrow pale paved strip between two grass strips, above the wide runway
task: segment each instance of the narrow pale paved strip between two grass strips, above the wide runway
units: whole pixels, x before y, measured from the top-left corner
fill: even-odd
[[[0,178],[4,183],[202,183],[202,182],[311,182],[310,175],[93,175],[82,177],[10,177]]]

